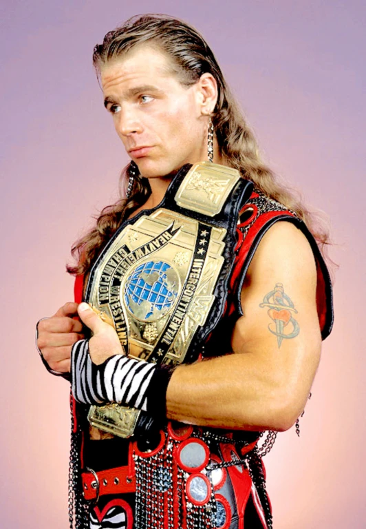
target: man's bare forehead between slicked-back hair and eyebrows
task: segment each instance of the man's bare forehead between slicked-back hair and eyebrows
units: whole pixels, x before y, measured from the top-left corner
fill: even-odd
[[[169,58],[159,50],[147,45],[127,52],[124,56],[111,59],[100,68],[103,92],[113,90],[117,85],[133,81],[166,82],[176,79]]]

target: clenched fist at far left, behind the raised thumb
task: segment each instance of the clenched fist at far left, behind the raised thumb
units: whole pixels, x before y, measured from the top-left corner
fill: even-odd
[[[69,373],[72,345],[83,340],[83,324],[78,317],[78,304],[67,302],[56,314],[38,324],[37,346],[50,369]]]

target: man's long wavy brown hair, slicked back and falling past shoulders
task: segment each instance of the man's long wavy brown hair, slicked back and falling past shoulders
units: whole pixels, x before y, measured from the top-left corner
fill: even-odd
[[[266,196],[292,209],[308,226],[324,254],[325,245],[329,244],[329,233],[321,213],[310,212],[299,193],[281,183],[275,173],[263,163],[255,136],[230,92],[215,55],[195,28],[166,14],[140,14],[131,17],[123,25],[108,32],[103,44],[94,47],[93,65],[98,81],[103,65],[125,56],[132,48],[144,43],[149,43],[149,46],[166,54],[171,74],[182,85],[197,83],[206,72],[215,77],[218,97],[212,121],[224,163],[238,169],[244,178],[252,180]],[[67,265],[69,273],[87,273],[121,222],[143,205],[151,194],[147,178],[137,175],[131,195],[129,198],[125,197],[131,169],[131,164],[122,169],[119,200],[114,205],[105,207],[95,217],[96,226],[73,245],[72,256],[76,258],[77,264]]]

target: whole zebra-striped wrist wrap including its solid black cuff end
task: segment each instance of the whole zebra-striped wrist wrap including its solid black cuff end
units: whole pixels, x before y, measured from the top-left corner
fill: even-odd
[[[72,394],[82,404],[116,402],[162,417],[174,369],[125,355],[111,356],[97,365],[89,354],[89,340],[79,340],[71,351]]]

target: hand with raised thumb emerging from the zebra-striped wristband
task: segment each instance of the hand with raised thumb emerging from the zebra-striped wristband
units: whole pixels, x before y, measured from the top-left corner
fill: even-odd
[[[114,327],[103,322],[87,303],[80,303],[78,315],[93,333],[89,340],[89,354],[94,364],[103,364],[111,356],[126,354]]]

